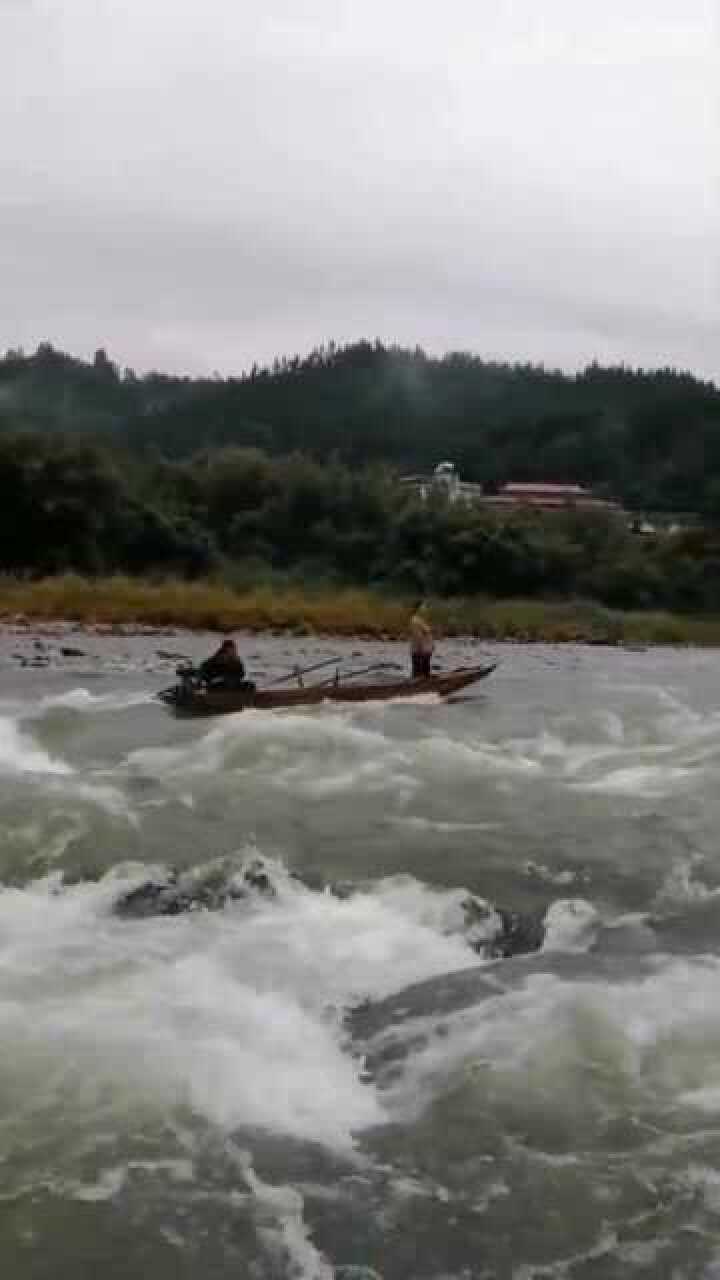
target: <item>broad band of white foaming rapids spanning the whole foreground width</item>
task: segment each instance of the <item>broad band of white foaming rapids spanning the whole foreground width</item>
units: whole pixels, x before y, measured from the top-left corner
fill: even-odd
[[[359,1133],[407,1119],[478,1070],[496,1073],[493,1088],[507,1105],[518,1091],[539,1089],[547,1101],[550,1089],[560,1107],[587,1061],[587,1034],[619,1089],[632,1078],[650,1097],[660,1071],[678,1103],[694,1091],[707,1107],[720,1091],[720,1015],[708,1020],[720,961],[667,959],[638,980],[621,966],[603,973],[587,955],[597,911],[565,900],[547,913],[542,956],[488,965],[471,950],[478,938],[462,890],[401,876],[338,895],[272,860],[261,864],[265,884],[256,859],[249,850],[196,868],[196,886],[236,887],[255,868],[258,892],[172,920],[117,915],[128,893],[167,877],[161,867],[127,864],[78,884],[54,874],[1,890],[0,1091],[13,1073],[29,1073],[28,1087],[42,1094],[44,1070],[55,1062],[56,1088],[63,1062],[70,1110],[87,1079],[97,1091],[115,1080],[138,1105],[184,1102],[228,1133],[259,1128],[346,1153]],[[585,963],[573,969],[583,952],[597,979]],[[466,996],[454,1012],[460,979]],[[428,984],[437,1014],[411,996]],[[388,998],[392,1023],[373,1039],[389,1037],[407,1052],[400,1071],[369,1076],[373,1041],[363,1047],[354,1032],[348,1043],[346,1012],[380,1010]]]

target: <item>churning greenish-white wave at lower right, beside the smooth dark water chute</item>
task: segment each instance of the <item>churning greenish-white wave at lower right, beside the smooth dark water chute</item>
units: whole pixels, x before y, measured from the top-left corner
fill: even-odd
[[[407,1123],[461,1091],[468,1114],[497,1108],[530,1146],[548,1123],[571,1125],[574,1151],[628,1096],[648,1124],[673,1107],[720,1115],[720,960],[653,960],[614,980],[600,965],[594,977],[548,965],[528,961],[520,984],[486,984],[455,1012],[396,1020],[366,1043],[389,1115]]]

